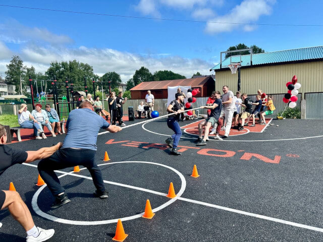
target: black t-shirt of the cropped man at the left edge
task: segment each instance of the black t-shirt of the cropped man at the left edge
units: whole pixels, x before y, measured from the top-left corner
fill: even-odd
[[[0,157],[0,175],[2,175],[10,166],[25,162],[28,154],[26,151],[13,150],[7,145],[0,145]]]

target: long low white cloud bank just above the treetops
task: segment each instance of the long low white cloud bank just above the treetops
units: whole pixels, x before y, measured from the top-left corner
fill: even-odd
[[[115,49],[97,49],[85,46],[79,48],[26,46],[22,49],[21,57],[24,64],[34,66],[36,72],[47,71],[50,62],[76,59],[79,62],[91,65],[94,72],[99,76],[106,72],[115,71],[120,74],[123,82],[128,81],[135,71],[142,66],[148,68],[151,73],[159,70],[170,70],[186,77],[191,77],[197,71],[207,75],[209,68],[213,67],[212,63],[197,58],[163,55],[145,56]]]

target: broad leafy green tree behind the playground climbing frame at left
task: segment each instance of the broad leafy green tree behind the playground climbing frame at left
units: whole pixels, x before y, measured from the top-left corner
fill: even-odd
[[[74,91],[85,91],[84,78],[87,81],[87,90],[89,93],[93,93],[92,78],[97,77],[93,73],[93,67],[86,63],[80,63],[75,59],[69,62],[52,62],[50,67],[45,72],[45,75],[52,79],[56,76],[56,80],[59,84],[65,84],[65,78],[68,77],[69,83],[73,81]],[[60,94],[65,94],[65,85],[58,85]]]

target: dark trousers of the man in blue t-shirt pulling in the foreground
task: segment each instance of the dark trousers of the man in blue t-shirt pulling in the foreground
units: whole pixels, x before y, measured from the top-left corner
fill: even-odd
[[[38,163],[38,171],[52,195],[57,196],[65,191],[54,170],[77,165],[85,166],[93,178],[95,188],[104,192],[102,173],[95,162],[95,153],[95,150],[66,148],[58,150],[52,156],[41,160]]]

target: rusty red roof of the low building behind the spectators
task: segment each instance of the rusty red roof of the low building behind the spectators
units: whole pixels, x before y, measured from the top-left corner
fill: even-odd
[[[168,80],[168,81],[142,82],[137,86],[131,88],[130,91],[167,89],[167,87],[169,86],[170,87],[176,87],[176,86],[202,87],[209,80],[209,78],[211,77],[207,76],[207,77]]]

